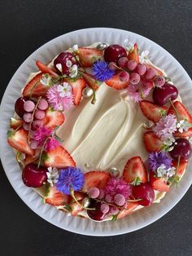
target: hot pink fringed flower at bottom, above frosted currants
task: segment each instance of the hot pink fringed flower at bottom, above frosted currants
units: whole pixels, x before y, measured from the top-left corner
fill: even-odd
[[[122,178],[111,178],[109,179],[107,185],[104,188],[106,195],[116,196],[116,194],[120,194],[124,196],[125,199],[131,194],[131,188],[129,183],[126,183]]]

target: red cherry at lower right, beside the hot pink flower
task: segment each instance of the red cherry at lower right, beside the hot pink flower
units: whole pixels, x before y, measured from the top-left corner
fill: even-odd
[[[135,199],[142,199],[138,201],[138,203],[143,206],[151,205],[155,199],[155,192],[153,188],[151,188],[150,183],[142,183],[138,186],[134,186],[132,193]]]

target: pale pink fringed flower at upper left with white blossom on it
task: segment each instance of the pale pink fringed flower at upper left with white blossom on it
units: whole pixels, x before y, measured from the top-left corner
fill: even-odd
[[[67,110],[72,107],[72,92],[68,91],[67,96],[63,96],[60,91],[60,85],[50,87],[46,93],[48,102],[52,108],[57,111]]]

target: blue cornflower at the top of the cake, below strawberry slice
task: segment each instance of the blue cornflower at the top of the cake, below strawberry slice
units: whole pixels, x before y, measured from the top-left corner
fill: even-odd
[[[92,71],[94,77],[99,81],[106,81],[110,79],[114,74],[114,70],[108,68],[108,63],[104,60],[98,60],[93,64]]]

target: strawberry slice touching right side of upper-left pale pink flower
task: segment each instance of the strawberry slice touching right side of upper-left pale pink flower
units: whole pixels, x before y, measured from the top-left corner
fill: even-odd
[[[86,82],[84,78],[79,78],[75,82],[70,79],[65,79],[70,86],[72,86],[72,93],[73,93],[73,102],[75,105],[80,104],[82,91],[86,86]]]

